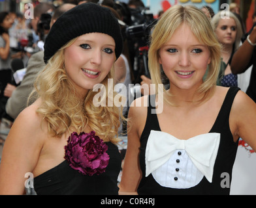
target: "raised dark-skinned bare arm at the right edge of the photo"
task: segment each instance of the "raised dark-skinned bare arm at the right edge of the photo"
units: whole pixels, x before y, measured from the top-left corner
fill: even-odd
[[[249,40],[255,44],[256,43],[256,26],[253,27],[253,30],[251,31],[251,34],[249,35]],[[255,46],[249,44],[248,40],[244,42],[234,53],[234,56],[232,57],[232,62],[231,62],[231,70],[232,73],[237,74],[237,73],[243,73],[245,72],[249,66],[251,66],[253,60],[252,60],[252,55],[253,55],[253,49]]]

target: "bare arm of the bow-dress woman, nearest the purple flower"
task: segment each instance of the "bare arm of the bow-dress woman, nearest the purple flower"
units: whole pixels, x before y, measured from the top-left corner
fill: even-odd
[[[138,103],[140,103],[141,107]],[[120,194],[136,194],[142,177],[140,170],[140,135],[146,122],[147,108],[143,107],[142,98],[136,99],[129,109],[128,144],[120,182]]]

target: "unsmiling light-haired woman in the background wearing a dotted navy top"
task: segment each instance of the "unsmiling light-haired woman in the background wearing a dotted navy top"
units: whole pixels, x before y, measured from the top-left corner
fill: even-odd
[[[212,18],[212,24],[221,44],[221,58],[225,63],[224,67],[221,68],[223,74],[221,86],[229,87],[238,86],[238,77],[231,72],[230,64],[234,52],[241,44],[243,32],[239,19],[232,12],[227,12],[226,17],[229,18],[223,18],[222,12],[218,12]]]

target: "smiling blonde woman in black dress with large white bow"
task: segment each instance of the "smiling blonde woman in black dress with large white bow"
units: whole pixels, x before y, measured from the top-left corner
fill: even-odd
[[[153,102],[152,96],[148,103],[136,99],[129,110],[120,193],[229,194],[238,138],[256,149],[256,105],[238,88],[216,86],[220,59],[221,46],[202,11],[177,5],[163,14],[149,66],[156,85],[163,68],[170,89],[162,113],[152,114],[159,92]]]

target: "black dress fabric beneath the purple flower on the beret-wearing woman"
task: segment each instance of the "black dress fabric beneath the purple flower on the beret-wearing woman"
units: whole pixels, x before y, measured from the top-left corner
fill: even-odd
[[[107,142],[110,157],[106,171],[100,175],[83,175],[67,161],[34,178],[38,195],[118,195],[121,155],[118,147]]]

